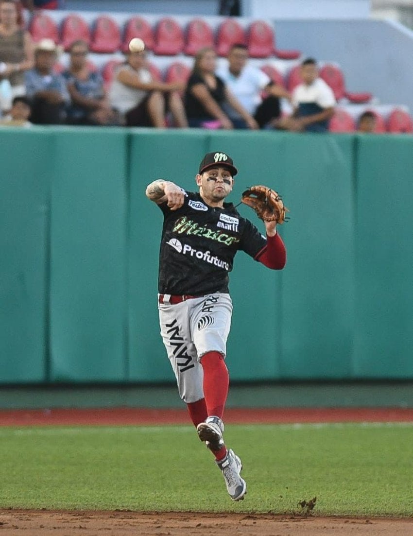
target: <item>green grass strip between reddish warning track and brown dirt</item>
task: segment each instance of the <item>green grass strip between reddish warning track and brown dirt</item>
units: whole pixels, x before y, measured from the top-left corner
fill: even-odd
[[[413,517],[413,425],[228,426],[233,503],[190,426],[0,429],[0,507]]]

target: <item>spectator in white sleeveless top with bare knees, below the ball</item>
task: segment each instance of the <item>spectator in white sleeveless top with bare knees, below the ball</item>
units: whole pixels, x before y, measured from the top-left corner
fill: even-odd
[[[174,126],[187,126],[184,105],[179,95],[185,84],[167,84],[152,79],[146,64],[146,52],[129,52],[126,62],[115,70],[109,90],[111,106],[125,118],[126,126],[166,126],[169,109]]]

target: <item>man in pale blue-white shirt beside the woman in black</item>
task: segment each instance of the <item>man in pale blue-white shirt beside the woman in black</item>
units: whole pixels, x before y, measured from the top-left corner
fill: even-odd
[[[247,65],[247,61],[248,48],[245,44],[233,44],[229,49],[228,64],[218,69],[216,74],[262,129],[280,117],[280,97],[291,100],[291,95],[282,86],[274,84],[261,69]],[[263,91],[267,94],[265,99],[261,97]],[[236,128],[247,128],[234,109],[226,109]]]

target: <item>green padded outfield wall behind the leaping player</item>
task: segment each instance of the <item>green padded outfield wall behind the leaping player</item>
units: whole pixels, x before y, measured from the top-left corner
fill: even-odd
[[[236,257],[231,378],[413,378],[413,137],[33,128],[0,130],[0,383],[174,381],[144,192],[196,189],[215,150],[229,200],[264,183],[291,211],[283,271]]]

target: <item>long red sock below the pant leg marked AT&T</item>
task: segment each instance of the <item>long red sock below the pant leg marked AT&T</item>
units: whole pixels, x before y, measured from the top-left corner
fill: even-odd
[[[222,419],[228,396],[228,369],[222,354],[208,352],[201,357],[204,369],[204,396],[208,416],[215,415]]]

